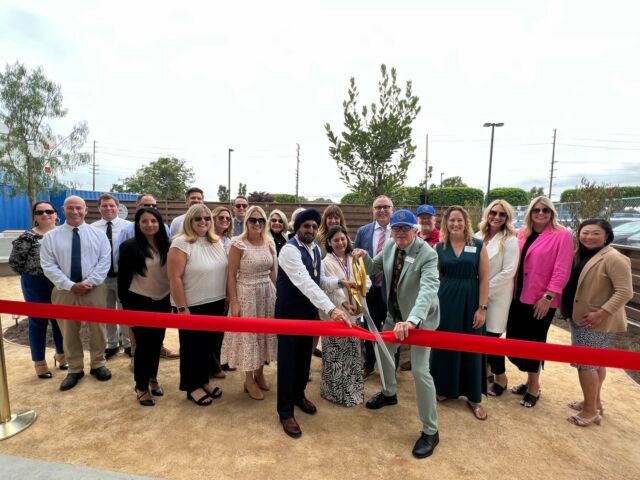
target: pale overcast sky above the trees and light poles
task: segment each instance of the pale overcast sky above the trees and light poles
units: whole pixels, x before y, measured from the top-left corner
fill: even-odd
[[[348,191],[324,124],[341,131],[354,76],[377,98],[380,64],[413,82],[422,111],[408,184],[459,175],[486,189],[581,176],[640,184],[640,6],[585,1],[143,2],[0,0],[0,60],[42,66],[97,141],[97,190],[161,155],[195,184],[339,199]],[[443,7],[443,4],[447,4]],[[482,4],[482,7],[479,5]],[[91,188],[89,168],[69,175]]]

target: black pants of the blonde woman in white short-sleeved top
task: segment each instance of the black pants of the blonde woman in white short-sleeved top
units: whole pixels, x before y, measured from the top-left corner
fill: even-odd
[[[189,307],[193,315],[221,316],[224,299]],[[193,392],[209,383],[209,370],[220,332],[205,330],[179,330],[180,337],[180,390]]]

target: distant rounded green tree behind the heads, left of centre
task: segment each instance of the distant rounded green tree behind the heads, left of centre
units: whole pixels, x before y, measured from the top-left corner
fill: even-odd
[[[123,193],[150,193],[164,200],[183,200],[184,192],[194,180],[193,169],[184,160],[161,157],[141,167],[131,177],[114,183],[111,190]]]

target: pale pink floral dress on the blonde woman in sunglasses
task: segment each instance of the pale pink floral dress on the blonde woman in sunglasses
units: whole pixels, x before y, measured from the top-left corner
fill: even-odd
[[[231,244],[242,251],[236,279],[241,317],[273,318],[276,288],[271,269],[276,262],[272,243],[256,246],[236,237]],[[243,372],[257,370],[277,359],[277,337],[269,333],[226,332],[222,342],[222,363]]]

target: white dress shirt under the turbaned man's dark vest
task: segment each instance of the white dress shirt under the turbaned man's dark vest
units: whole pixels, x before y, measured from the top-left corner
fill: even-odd
[[[311,244],[311,247],[315,249],[316,244]],[[311,258],[313,258],[313,255]],[[316,261],[318,264],[320,263],[319,258],[316,259]],[[327,276],[324,268],[320,268],[320,285],[318,286],[309,276],[309,271],[304,263],[302,263],[302,255],[297,247],[290,243],[282,247],[280,256],[278,257],[278,265],[280,265],[280,268],[287,274],[291,283],[293,283],[316,308],[329,314],[329,312],[336,307],[323,290],[333,291],[340,288],[338,283],[340,279]]]

